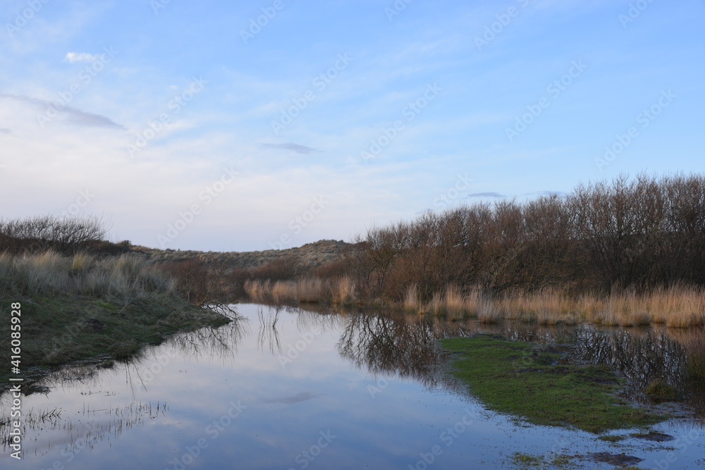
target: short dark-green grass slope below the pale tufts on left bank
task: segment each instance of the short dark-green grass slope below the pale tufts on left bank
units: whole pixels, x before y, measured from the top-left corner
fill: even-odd
[[[10,369],[10,306],[22,304],[23,372],[41,372],[78,359],[124,359],[145,343],[155,343],[178,330],[220,326],[229,320],[199,309],[176,296],[152,295],[98,299],[81,295],[51,295],[28,299],[0,299],[0,354],[7,358],[0,387]]]

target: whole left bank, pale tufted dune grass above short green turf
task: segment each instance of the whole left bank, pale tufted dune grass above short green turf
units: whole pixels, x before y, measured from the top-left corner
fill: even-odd
[[[78,359],[125,359],[178,330],[228,323],[180,299],[175,288],[173,278],[131,256],[0,254],[0,311],[6,319],[0,352],[11,355],[15,302],[21,304],[21,369],[30,373]]]

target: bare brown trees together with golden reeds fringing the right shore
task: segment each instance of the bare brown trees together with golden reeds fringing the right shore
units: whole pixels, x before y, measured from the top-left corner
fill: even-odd
[[[374,228],[343,260],[263,272],[243,290],[258,302],[384,304],[486,322],[685,328],[705,323],[704,276],[705,177],[640,175]]]

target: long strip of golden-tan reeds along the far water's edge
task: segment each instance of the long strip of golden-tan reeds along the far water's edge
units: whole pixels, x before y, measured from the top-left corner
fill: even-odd
[[[354,281],[348,277],[329,280],[304,277],[274,283],[247,280],[245,292],[253,302],[384,305],[453,321],[477,319],[482,323],[497,323],[506,319],[539,325],[596,323],[625,327],[663,323],[668,328],[705,324],[705,291],[680,285],[645,294],[627,291],[610,295],[569,295],[548,288],[491,297],[479,287],[464,292],[458,285],[450,284],[445,290],[435,292],[428,302],[423,302],[418,285],[412,283],[398,302],[383,302],[381,299],[362,302],[357,298]]]

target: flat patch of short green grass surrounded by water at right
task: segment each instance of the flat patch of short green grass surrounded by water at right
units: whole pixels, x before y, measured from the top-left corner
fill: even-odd
[[[615,397],[619,379],[601,366],[559,364],[558,352],[489,335],[450,338],[453,373],[490,409],[534,424],[573,426],[592,433],[649,426],[666,416]]]

